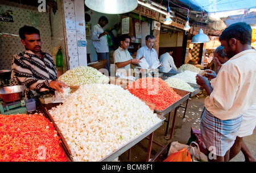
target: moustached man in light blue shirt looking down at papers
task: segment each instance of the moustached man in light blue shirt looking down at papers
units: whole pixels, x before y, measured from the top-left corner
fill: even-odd
[[[155,43],[155,36],[147,35],[145,40],[146,45],[144,47],[139,48],[137,51],[137,59],[142,57],[146,58],[147,64],[152,67],[154,64],[162,64],[158,60],[158,53],[156,53],[155,49],[152,48]]]

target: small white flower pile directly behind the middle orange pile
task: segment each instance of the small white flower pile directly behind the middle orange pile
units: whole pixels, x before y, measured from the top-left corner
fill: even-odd
[[[193,88],[192,86],[190,86],[187,82],[178,79],[178,78],[168,78],[165,81],[170,87],[172,88],[178,88],[180,90],[185,90],[185,91],[189,91],[189,92],[193,92],[195,91],[195,88]]]

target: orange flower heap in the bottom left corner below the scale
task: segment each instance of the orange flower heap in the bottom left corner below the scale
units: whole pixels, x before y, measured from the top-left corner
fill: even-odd
[[[60,142],[41,114],[0,115],[0,162],[65,162]]]

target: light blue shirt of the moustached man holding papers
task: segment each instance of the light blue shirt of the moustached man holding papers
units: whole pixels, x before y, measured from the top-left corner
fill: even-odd
[[[148,49],[147,46],[141,47],[139,48],[139,50],[137,51],[137,56],[136,58],[141,58],[141,57],[145,57],[147,64],[151,67],[155,61],[158,61],[158,53],[156,53],[154,48]]]

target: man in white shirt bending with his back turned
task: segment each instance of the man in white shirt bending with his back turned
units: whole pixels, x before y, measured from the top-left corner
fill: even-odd
[[[160,62],[163,64],[162,66],[159,67],[160,72],[171,73],[171,74],[179,73],[179,71],[177,70],[177,67],[174,64],[174,58],[172,58],[173,52],[174,50],[170,48],[166,50],[166,53],[160,56]]]

